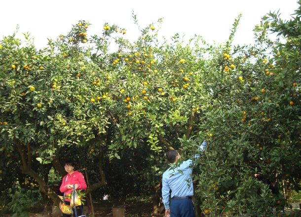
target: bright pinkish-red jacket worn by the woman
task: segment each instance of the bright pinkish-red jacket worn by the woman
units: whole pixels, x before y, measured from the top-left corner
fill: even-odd
[[[87,188],[87,184],[83,177],[83,174],[78,171],[75,171],[73,174],[67,174],[63,177],[60,191],[62,193],[65,192],[65,196],[68,196],[68,194],[72,194],[72,189],[67,188],[68,184],[77,184],[76,190],[85,190]],[[70,199],[67,198],[66,201],[70,201]]]

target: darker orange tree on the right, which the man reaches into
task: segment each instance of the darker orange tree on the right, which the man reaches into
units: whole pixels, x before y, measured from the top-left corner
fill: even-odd
[[[282,190],[300,189],[300,15],[270,13],[254,45],[230,46],[230,36],[208,54],[201,129],[212,137],[195,175],[208,216],[273,216],[288,206]]]

